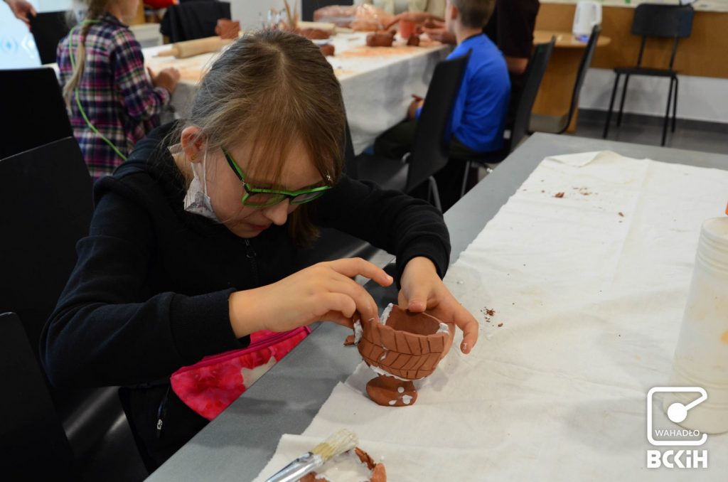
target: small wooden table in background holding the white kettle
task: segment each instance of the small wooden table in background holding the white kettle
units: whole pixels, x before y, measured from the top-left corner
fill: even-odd
[[[537,30],[534,31],[534,45],[550,42],[552,36],[556,37],[556,44],[531,112],[560,117],[569,112],[571,96],[574,93],[574,82],[576,82],[579,72],[579,63],[584,56],[587,44],[574,39],[571,32]],[[596,42],[597,49],[610,42],[612,39],[608,36],[600,35]],[[566,129],[567,132],[573,133],[577,130],[578,114],[578,111],[574,112],[569,127]]]

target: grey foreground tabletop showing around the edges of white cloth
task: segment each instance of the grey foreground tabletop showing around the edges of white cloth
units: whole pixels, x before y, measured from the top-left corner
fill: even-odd
[[[451,263],[467,247],[544,157],[612,150],[699,167],[726,169],[728,156],[614,141],[535,134],[445,215],[452,240]],[[380,306],[392,291],[373,290]],[[150,481],[249,481],[274,453],[283,433],[301,433],[333,387],[360,363],[342,346],[349,331],[333,323],[314,333],[210,422],[149,478]],[[558,461],[555,461],[555,464]]]

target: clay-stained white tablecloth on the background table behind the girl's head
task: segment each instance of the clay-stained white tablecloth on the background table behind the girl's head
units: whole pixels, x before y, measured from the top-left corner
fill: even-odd
[[[328,60],[341,82],[344,106],[352,130],[354,151],[359,154],[377,135],[402,121],[411,103],[411,95],[424,97],[435,65],[444,60],[450,49],[435,42],[427,47],[365,47],[365,33],[339,33],[331,38],[336,55]],[[424,42],[427,44],[427,42]],[[197,82],[217,54],[197,55],[186,59],[157,57],[168,46],[144,49],[148,66],[158,71],[165,66],[180,69],[182,82],[172,98],[178,115],[189,113]]]

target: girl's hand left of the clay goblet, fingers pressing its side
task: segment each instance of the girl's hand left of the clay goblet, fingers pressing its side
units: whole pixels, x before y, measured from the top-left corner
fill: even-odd
[[[314,264],[272,285],[237,291],[229,299],[230,323],[235,336],[258,330],[288,331],[317,320],[352,327],[355,312],[379,319],[374,299],[352,280],[360,274],[382,286],[392,277],[362,258]]]

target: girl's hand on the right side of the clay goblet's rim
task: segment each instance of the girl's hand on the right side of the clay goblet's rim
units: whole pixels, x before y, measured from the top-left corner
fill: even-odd
[[[405,266],[400,285],[400,308],[411,312],[424,312],[427,309],[432,316],[455,323],[463,332],[460,351],[470,353],[478,342],[478,321],[450,293],[430,259],[412,258]]]

